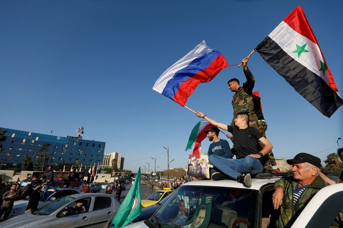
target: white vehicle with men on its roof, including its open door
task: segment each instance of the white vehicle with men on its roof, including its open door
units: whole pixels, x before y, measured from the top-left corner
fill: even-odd
[[[125,228],[190,227],[192,223],[194,227],[265,228],[271,216],[278,216],[272,203],[278,179],[252,178],[250,188],[234,180],[188,182],[175,190],[150,219]],[[313,197],[292,227],[328,227],[342,208],[343,183],[327,186]]]

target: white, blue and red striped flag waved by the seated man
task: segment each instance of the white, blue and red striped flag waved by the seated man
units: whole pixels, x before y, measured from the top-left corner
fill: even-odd
[[[185,106],[187,98],[200,83],[211,81],[228,66],[220,52],[210,49],[205,41],[202,41],[169,67],[157,79],[152,89]]]

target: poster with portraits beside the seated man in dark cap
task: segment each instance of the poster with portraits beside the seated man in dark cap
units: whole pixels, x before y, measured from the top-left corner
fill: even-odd
[[[187,175],[210,178],[207,154],[190,154],[187,165]]]

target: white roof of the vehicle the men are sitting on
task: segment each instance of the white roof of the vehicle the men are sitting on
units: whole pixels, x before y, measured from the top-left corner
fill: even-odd
[[[251,179],[251,187],[245,187],[242,183],[237,182],[236,180],[198,180],[198,181],[190,181],[184,183],[185,185],[192,185],[192,186],[215,186],[215,187],[235,187],[235,188],[247,188],[247,189],[254,189],[260,190],[260,188],[268,183],[274,183],[275,181],[279,180],[281,177],[272,177],[270,179],[259,179],[259,178],[252,178]]]

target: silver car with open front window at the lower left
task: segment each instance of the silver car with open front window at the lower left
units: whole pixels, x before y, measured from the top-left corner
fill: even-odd
[[[120,207],[114,195],[80,193],[57,199],[33,213],[1,223],[2,228],[107,227]]]

